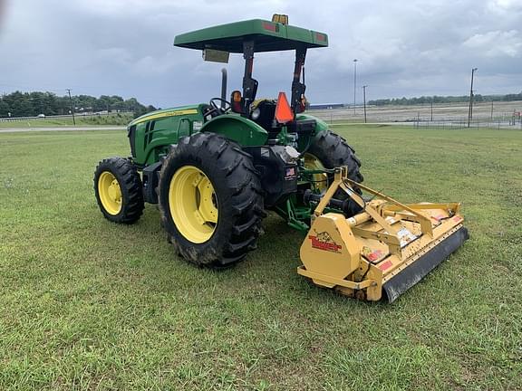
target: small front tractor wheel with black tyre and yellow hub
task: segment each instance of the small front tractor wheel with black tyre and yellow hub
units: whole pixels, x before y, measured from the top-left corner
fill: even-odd
[[[94,172],[94,194],[102,214],[114,223],[132,224],[145,207],[140,174],[129,159],[103,159]]]

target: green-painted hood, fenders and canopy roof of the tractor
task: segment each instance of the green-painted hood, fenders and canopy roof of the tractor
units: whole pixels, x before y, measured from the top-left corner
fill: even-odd
[[[253,19],[179,34],[174,45],[198,50],[211,48],[225,52],[244,52],[246,41],[254,42],[253,52],[305,50],[328,46],[328,35],[292,25]],[[255,96],[251,98],[253,101]],[[128,133],[135,163],[140,167],[156,163],[168,153],[170,145],[178,143],[179,138],[198,131],[222,134],[247,147],[266,144],[268,131],[247,115],[226,112],[207,119],[205,111],[208,107],[205,103],[181,106],[153,111],[134,119],[129,124]],[[296,119],[313,117],[301,114]],[[323,121],[317,120],[318,131],[326,128]],[[298,144],[304,148],[306,143],[307,140],[301,139]]]

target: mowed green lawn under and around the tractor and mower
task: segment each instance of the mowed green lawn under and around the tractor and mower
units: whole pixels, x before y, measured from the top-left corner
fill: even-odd
[[[275,215],[223,272],[176,257],[147,205],[102,218],[124,131],[0,134],[0,389],[521,389],[522,132],[335,127],[365,182],[460,201],[471,239],[393,304],[295,272]]]

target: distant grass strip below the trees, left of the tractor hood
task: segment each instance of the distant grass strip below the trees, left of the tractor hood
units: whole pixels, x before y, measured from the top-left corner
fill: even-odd
[[[28,119],[20,121],[0,121],[0,129],[3,128],[54,128],[62,126],[104,126],[104,125],[121,125],[125,126],[132,120],[132,114],[118,113],[100,116],[79,116],[75,117],[76,125],[73,124],[73,118],[44,118],[44,119]]]

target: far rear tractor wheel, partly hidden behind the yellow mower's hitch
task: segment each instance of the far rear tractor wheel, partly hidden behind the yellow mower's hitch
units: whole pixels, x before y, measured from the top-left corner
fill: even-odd
[[[346,140],[333,133],[331,130],[324,130],[320,132],[314,140],[314,143],[308,148],[307,155],[308,159],[313,161],[313,158],[318,160],[314,165],[319,164],[325,168],[335,168],[346,166],[348,167],[348,177],[355,182],[361,183],[363,180],[361,174],[361,160],[355,156],[355,150],[348,145]],[[306,156],[305,156],[306,157]],[[306,161],[306,160],[305,160]],[[333,181],[333,175],[329,176],[329,183]],[[362,194],[359,187],[355,187],[354,190]],[[343,190],[338,190],[335,193],[335,198],[346,199],[348,195]],[[361,211],[361,206],[355,202],[350,203],[350,213],[348,215],[356,215]]]

